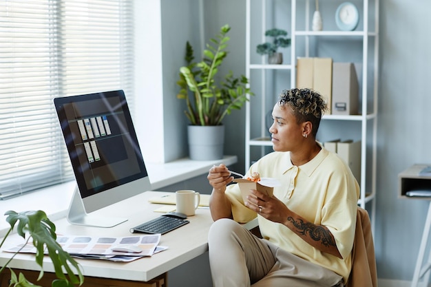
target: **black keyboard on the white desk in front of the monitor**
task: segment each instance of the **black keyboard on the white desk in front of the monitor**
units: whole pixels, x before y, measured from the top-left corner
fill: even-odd
[[[148,222],[144,222],[143,224],[140,224],[134,228],[130,229],[131,233],[161,233],[165,234],[169,231],[173,231],[174,229],[183,226],[185,224],[188,224],[189,220],[182,220],[180,218],[176,217],[169,217],[169,216],[159,216],[155,218],[154,220],[150,220]]]

